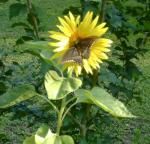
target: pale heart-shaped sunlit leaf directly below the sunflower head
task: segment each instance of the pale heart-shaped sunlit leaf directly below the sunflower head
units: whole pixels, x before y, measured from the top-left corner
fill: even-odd
[[[48,98],[58,100],[77,90],[82,82],[77,78],[60,77],[55,71],[49,71],[45,76],[45,88]]]

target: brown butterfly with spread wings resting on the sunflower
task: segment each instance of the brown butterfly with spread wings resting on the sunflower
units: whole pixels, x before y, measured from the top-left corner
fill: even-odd
[[[75,62],[82,65],[82,60],[89,58],[90,48],[95,40],[95,37],[80,39],[65,52],[62,58],[62,63]]]

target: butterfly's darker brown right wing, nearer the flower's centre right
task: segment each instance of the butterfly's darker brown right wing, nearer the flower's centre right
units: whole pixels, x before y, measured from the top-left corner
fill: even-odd
[[[85,58],[85,59],[89,58],[90,48],[95,40],[96,40],[95,37],[90,37],[90,38],[85,38],[79,42],[78,46],[81,50],[83,58]]]

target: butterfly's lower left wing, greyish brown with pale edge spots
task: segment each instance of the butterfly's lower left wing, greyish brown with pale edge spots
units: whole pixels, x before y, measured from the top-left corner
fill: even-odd
[[[62,58],[62,63],[67,62],[76,62],[82,64],[82,57],[75,46],[69,48],[69,50],[64,54]]]

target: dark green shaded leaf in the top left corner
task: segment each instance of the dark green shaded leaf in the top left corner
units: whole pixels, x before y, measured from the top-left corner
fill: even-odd
[[[19,14],[24,14],[27,12],[26,4],[14,3],[9,7],[9,18],[18,16]]]

